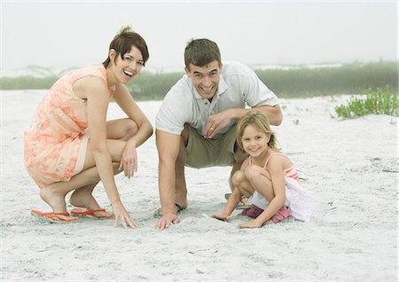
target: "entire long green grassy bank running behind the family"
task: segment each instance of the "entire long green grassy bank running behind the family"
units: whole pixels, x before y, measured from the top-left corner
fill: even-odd
[[[259,78],[280,98],[306,98],[334,94],[364,94],[364,90],[385,88],[398,90],[397,62],[351,63],[341,67],[289,70],[257,70]],[[158,100],[164,97],[182,73],[152,74],[143,72],[129,83],[137,100]],[[57,77],[2,77],[1,90],[49,89]]]

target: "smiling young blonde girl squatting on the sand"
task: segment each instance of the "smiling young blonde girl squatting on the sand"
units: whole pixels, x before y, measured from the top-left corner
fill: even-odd
[[[239,227],[261,227],[264,223],[278,223],[291,215],[309,221],[316,201],[301,187],[293,163],[278,151],[276,136],[267,117],[255,111],[245,114],[237,126],[237,143],[248,157],[232,176],[235,188],[223,214],[213,217],[228,220],[244,195],[253,206],[244,210],[242,215],[254,220],[239,223]]]

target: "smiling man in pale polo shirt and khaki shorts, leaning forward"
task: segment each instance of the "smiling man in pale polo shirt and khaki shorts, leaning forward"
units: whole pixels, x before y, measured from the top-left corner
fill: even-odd
[[[185,73],[168,91],[156,117],[159,153],[160,220],[156,227],[179,223],[177,212],[187,208],[184,166],[233,166],[236,124],[249,109],[266,114],[279,125],[278,98],[249,67],[222,64],[217,44],[195,39],[184,51]],[[237,153],[236,153],[237,155]]]

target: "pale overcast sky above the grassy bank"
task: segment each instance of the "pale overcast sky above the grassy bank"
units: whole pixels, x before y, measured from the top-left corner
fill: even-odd
[[[396,60],[392,2],[4,1],[1,67],[81,67],[106,59],[121,26],[149,46],[147,67],[184,67],[191,38],[218,43],[222,59],[254,64]]]

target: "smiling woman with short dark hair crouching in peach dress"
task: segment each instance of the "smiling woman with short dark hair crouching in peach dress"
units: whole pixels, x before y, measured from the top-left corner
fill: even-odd
[[[137,171],[137,146],[153,134],[153,127],[125,86],[140,73],[149,53],[145,40],[129,27],[110,44],[108,58],[98,65],[64,75],[39,104],[25,131],[27,171],[40,187],[40,196],[53,212],[32,215],[54,223],[77,218],[66,211],[65,197],[79,207],[72,215],[112,218],[127,228],[137,227],[121,203],[113,176]],[[106,121],[110,99],[128,118]],[[113,213],[99,207],[92,192],[99,181],[106,189]]]

